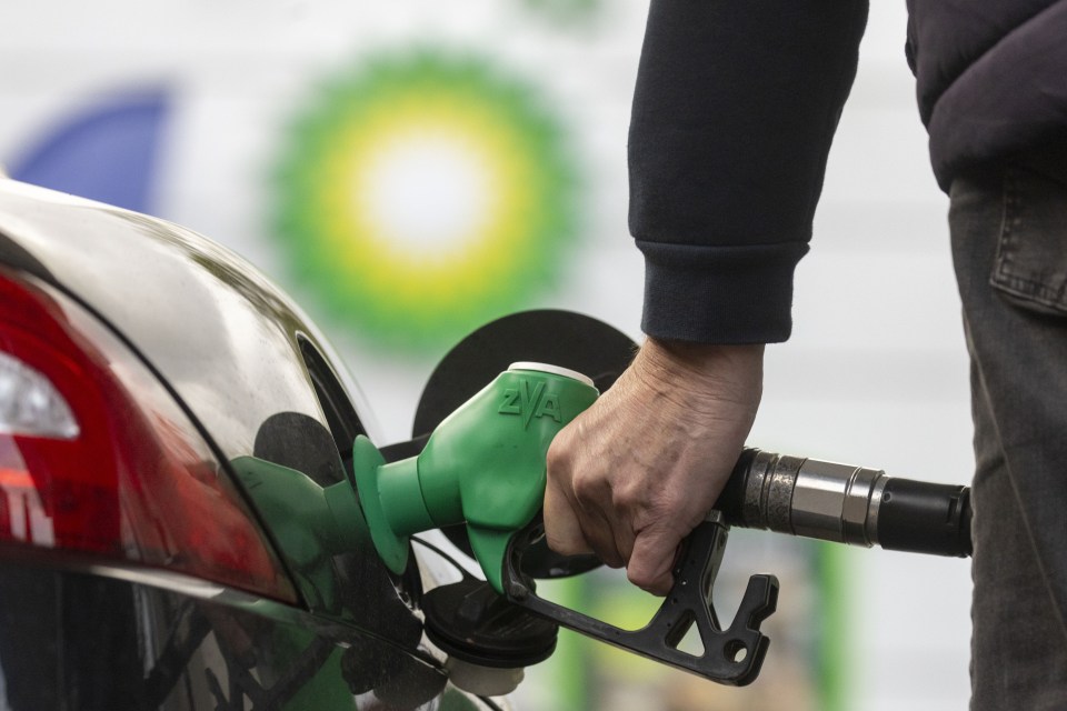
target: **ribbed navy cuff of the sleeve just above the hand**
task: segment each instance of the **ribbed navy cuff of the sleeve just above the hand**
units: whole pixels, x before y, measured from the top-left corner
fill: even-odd
[[[804,242],[706,247],[637,240],[642,330],[697,343],[778,343],[792,330],[792,272]]]

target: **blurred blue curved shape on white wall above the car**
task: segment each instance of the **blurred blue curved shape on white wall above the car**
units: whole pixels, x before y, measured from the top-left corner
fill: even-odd
[[[157,162],[169,113],[162,90],[117,93],[38,139],[9,173],[17,180],[152,212]]]

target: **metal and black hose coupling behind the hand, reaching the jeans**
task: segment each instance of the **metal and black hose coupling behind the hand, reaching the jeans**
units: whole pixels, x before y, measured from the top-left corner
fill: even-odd
[[[716,508],[731,525],[966,558],[970,490],[748,449]]]

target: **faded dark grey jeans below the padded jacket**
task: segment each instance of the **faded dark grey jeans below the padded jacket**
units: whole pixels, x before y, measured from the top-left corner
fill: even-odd
[[[949,227],[971,362],[971,709],[1067,709],[1067,186],[957,179]]]

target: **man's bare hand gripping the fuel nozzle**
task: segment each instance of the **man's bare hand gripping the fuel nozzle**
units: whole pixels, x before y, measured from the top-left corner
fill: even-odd
[[[549,547],[592,551],[666,594],[681,540],[711,510],[762,392],[762,346],[649,339],[548,450]]]

